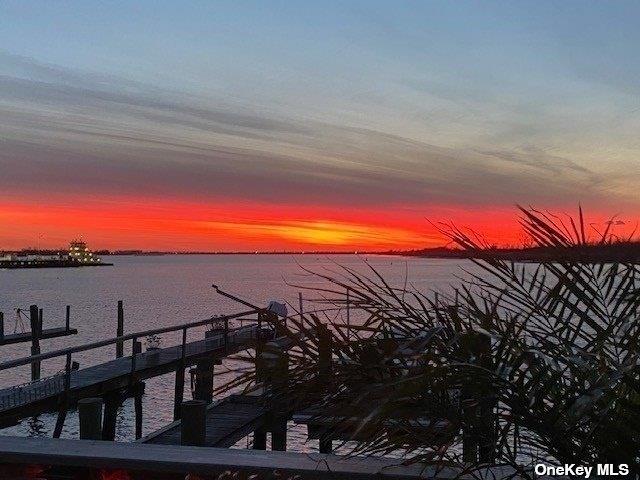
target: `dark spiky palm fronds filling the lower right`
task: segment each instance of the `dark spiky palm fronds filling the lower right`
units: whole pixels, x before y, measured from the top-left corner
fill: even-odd
[[[581,210],[566,220],[520,213],[536,246],[612,239],[608,229],[590,237]],[[478,475],[504,466],[524,478],[540,461],[629,464],[637,476],[638,266],[575,256],[515,263],[471,233],[438,228],[475,257],[449,293],[392,286],[373,268],[310,272],[326,285],[312,288],[316,309],[283,329],[295,345],[290,408],[317,414],[326,437],[354,440],[352,454]],[[357,327],[340,321],[347,304]]]

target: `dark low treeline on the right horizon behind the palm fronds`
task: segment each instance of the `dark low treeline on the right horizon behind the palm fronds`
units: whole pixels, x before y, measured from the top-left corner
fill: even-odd
[[[438,247],[387,253],[424,258],[493,258],[514,262],[574,261],[581,263],[640,263],[640,241],[598,243],[570,247],[490,247],[478,250],[459,250]]]

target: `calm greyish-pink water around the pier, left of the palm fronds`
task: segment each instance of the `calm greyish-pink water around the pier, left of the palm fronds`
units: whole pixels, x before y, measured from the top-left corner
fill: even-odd
[[[211,288],[216,283],[257,304],[269,300],[298,303],[299,289],[289,284],[320,285],[305,274],[300,265],[313,271],[336,270],[336,264],[365,272],[366,259],[392,284],[405,281],[422,291],[443,290],[457,283],[460,267],[465,262],[434,259],[403,259],[386,256],[355,255],[168,255],[157,257],[107,257],[113,267],[41,270],[0,270],[0,311],[5,314],[5,331],[13,332],[15,309],[37,304],[44,309],[44,327],[64,325],[65,305],[71,305],[71,325],[78,335],[43,340],[43,352],[83,344],[115,336],[116,304],[124,301],[125,333],[178,325],[207,318],[213,314],[233,313],[242,307],[220,297]],[[305,295],[307,295],[305,293]],[[26,328],[28,320],[23,323]],[[203,332],[194,332],[193,339]],[[190,338],[190,339],[191,339]],[[178,338],[163,336],[163,344],[171,345]],[[29,355],[30,344],[0,347],[2,359]],[[130,346],[125,347],[127,351]],[[81,368],[112,359],[114,346],[74,355]],[[224,368],[233,365],[223,364]],[[64,368],[64,359],[43,362],[43,376]],[[231,373],[216,377],[216,385]],[[29,367],[0,372],[0,387],[29,380]],[[173,375],[150,379],[144,403],[144,434],[151,433],[172,420]],[[188,382],[187,382],[188,383]],[[187,387],[188,388],[188,387]],[[190,398],[190,392],[185,393]],[[133,401],[127,400],[119,413],[117,439],[130,441],[134,432]],[[51,436],[55,415],[44,414],[25,419],[15,427],[0,431],[3,435]],[[78,435],[77,415],[70,412],[63,437]],[[241,444],[246,443],[240,442]],[[238,445],[242,446],[242,445]],[[289,448],[314,451],[317,443],[306,442],[306,430],[291,426]]]

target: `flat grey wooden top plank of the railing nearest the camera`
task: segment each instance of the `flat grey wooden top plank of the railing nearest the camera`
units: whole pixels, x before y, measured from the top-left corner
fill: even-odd
[[[149,472],[219,474],[221,470],[301,475],[305,480],[371,478],[434,478],[435,467],[402,465],[392,458],[360,458],[338,455],[231,450],[178,445],[117,443],[93,440],[0,437],[0,458],[4,463],[56,465],[85,468],[118,468]],[[489,470],[489,469],[487,469]],[[492,468],[483,476],[506,478],[508,469]],[[451,469],[438,471],[438,479],[462,478]]]

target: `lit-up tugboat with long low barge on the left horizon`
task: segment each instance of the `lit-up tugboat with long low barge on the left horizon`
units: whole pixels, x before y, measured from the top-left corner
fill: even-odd
[[[102,267],[112,266],[89,250],[83,240],[72,240],[69,252],[43,254],[38,252],[18,252],[0,257],[0,269],[17,268],[68,268],[68,267]]]

